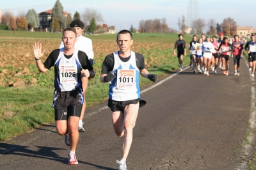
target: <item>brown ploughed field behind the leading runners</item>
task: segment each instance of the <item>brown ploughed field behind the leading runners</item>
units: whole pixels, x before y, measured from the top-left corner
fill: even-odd
[[[29,38],[19,38],[19,40],[13,40],[13,38],[4,39],[0,41],[0,86],[38,86],[38,78],[36,76],[38,72],[36,72],[36,69],[31,69],[31,65],[36,65],[33,56],[33,44],[35,40]],[[45,49],[42,61],[49,56],[52,50],[58,49],[60,45],[60,40],[58,39],[42,39],[40,42],[42,43],[42,49]],[[164,54],[166,54],[164,51],[170,50],[170,47],[172,47],[170,43],[134,42],[132,50],[144,54],[145,64],[147,68],[150,68],[158,66],[163,62],[164,58],[170,57],[164,56]],[[115,40],[113,42],[93,42],[93,52],[96,63],[93,67],[97,72],[100,73],[100,66],[104,58],[115,50],[118,50]],[[157,52],[156,54],[156,50],[163,52]],[[167,54],[168,53],[169,51]]]

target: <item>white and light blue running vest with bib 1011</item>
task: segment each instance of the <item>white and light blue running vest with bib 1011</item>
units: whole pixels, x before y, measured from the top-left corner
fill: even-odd
[[[140,70],[136,65],[135,52],[131,51],[131,58],[123,62],[118,51],[114,52],[115,65],[112,73],[115,79],[109,84],[109,98],[115,101],[127,101],[140,98]]]

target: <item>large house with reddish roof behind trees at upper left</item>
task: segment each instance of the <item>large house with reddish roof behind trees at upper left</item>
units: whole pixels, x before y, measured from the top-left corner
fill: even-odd
[[[49,20],[52,19],[52,9],[51,10],[47,10],[45,12],[40,12],[38,13],[39,15],[39,20],[40,20],[40,28],[47,28],[50,29],[50,22]],[[64,16],[67,18],[67,16],[70,15],[70,13],[68,12],[64,12]]]

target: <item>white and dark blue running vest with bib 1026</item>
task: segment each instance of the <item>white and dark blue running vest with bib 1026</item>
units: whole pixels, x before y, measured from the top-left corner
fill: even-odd
[[[63,49],[60,49],[58,59],[54,63],[54,87],[57,91],[72,91],[77,87],[82,89],[82,66],[77,56],[78,50],[75,49],[73,56],[67,59]]]

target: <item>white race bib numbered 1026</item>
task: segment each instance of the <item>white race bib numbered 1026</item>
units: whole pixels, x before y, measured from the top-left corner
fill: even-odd
[[[70,84],[77,82],[76,65],[60,65],[60,83]]]

